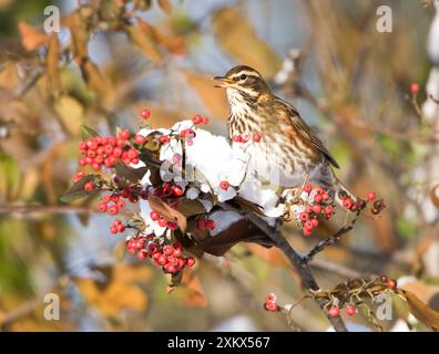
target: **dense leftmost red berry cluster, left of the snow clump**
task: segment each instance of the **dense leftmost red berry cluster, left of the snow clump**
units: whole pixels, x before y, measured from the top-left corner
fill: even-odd
[[[135,135],[122,131],[119,136],[95,136],[79,143],[83,157],[79,165],[90,165],[92,169],[111,168],[120,160],[124,164],[139,163],[139,148],[146,142],[143,135]]]

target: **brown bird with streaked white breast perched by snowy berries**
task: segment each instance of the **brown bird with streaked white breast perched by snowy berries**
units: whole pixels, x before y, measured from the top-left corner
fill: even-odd
[[[239,65],[214,79],[226,88],[231,105],[229,138],[246,133],[263,137],[248,147],[257,178],[296,187],[309,176],[324,186],[334,185],[331,166],[338,168],[337,162],[297,110],[275,96],[257,71]]]

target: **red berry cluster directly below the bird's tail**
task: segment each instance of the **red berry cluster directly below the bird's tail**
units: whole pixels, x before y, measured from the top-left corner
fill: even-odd
[[[304,236],[310,236],[313,229],[319,223],[318,219],[325,217],[329,220],[334,215],[334,201],[329,194],[320,186],[313,188],[310,185],[306,185],[304,191],[308,195],[314,191],[313,201],[299,214],[299,219],[304,227]]]

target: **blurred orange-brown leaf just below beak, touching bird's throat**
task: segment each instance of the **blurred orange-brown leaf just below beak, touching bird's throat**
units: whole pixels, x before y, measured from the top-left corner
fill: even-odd
[[[188,70],[181,70],[181,73],[190,86],[195,90],[196,94],[211,113],[215,117],[226,122],[228,116],[228,103],[225,90],[215,88],[213,86],[214,82],[210,76],[201,75]]]

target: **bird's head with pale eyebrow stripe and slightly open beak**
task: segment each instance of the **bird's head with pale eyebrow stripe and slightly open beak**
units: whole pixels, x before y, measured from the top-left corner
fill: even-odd
[[[245,65],[231,69],[224,76],[215,76],[215,87],[225,87],[227,95],[239,95],[247,100],[257,100],[262,94],[269,94],[269,87],[261,74]]]

